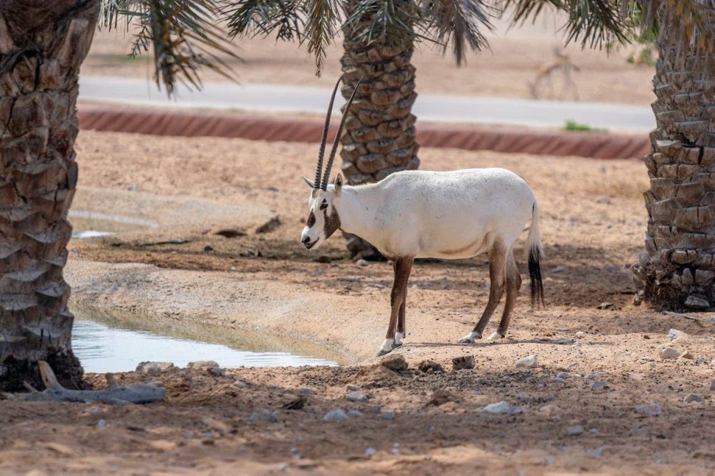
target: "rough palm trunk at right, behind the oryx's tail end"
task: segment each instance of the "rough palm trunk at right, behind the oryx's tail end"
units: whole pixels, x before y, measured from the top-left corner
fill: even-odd
[[[715,304],[715,77],[694,72],[677,31],[663,27],[658,39],[646,252],[633,271],[650,302],[706,309]]]

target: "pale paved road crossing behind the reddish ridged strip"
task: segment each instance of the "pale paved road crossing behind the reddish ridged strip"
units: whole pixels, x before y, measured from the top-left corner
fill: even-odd
[[[207,83],[202,91],[179,88],[177,99],[167,99],[153,82],[144,79],[82,76],[79,85],[81,100],[223,110],[325,114],[330,98],[327,89],[298,86]],[[340,107],[342,97],[336,98],[336,103]],[[649,106],[420,95],[413,111],[431,122],[563,127],[571,119],[614,132],[647,132],[655,127]]]

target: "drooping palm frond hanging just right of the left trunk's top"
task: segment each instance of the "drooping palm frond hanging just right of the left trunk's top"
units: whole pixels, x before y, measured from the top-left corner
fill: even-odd
[[[219,55],[237,56],[217,26],[212,0],[102,0],[100,24],[117,28],[119,21],[134,28],[130,56],[152,49],[154,80],[169,96],[179,82],[200,89],[204,68],[232,77],[232,68]]]

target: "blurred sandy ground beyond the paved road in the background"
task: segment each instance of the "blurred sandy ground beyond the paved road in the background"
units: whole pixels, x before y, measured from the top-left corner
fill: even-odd
[[[650,104],[655,99],[651,79],[654,67],[633,66],[626,57],[633,47],[613,51],[582,50],[580,45],[564,48],[561,25],[556,19],[538,21],[509,30],[505,21],[497,21],[494,33],[487,33],[490,50],[470,53],[463,67],[434,44],[418,45],[413,62],[417,68],[417,90],[421,94],[460,94],[531,98],[530,83],[539,71],[553,64],[554,49],[567,54],[578,71],[571,77],[578,94],[564,89],[564,76],[557,74],[551,89],[542,99],[566,99],[624,104]],[[153,65],[148,56],[127,58],[131,36],[124,29],[102,31],[95,36],[92,49],[82,66],[82,74],[92,76],[138,76],[151,80]],[[275,39],[240,40],[235,44],[240,60],[227,59],[242,84],[297,84],[332,88],[340,75],[340,39],[327,51],[322,77],[315,77],[315,64],[307,49]],[[205,81],[225,81],[211,71],[204,71]],[[153,86],[152,86],[153,87]]]

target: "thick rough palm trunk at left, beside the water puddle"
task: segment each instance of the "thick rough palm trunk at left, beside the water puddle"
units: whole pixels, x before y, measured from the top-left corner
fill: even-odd
[[[82,385],[62,268],[77,79],[98,14],[98,0],[0,3],[0,390],[41,384],[38,360]]]

